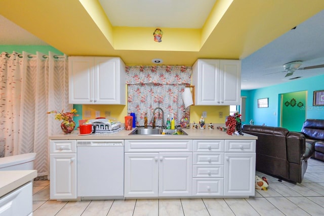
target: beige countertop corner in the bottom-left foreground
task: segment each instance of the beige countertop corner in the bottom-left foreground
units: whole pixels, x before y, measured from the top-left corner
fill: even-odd
[[[0,197],[32,181],[37,177],[37,170],[0,171]]]

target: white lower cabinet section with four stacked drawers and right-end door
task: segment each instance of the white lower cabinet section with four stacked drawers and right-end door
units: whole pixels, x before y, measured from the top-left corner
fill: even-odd
[[[255,140],[193,140],[193,196],[255,195]]]

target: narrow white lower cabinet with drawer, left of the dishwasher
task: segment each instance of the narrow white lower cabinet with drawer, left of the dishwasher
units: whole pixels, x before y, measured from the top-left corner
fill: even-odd
[[[50,141],[50,198],[76,199],[76,140]]]

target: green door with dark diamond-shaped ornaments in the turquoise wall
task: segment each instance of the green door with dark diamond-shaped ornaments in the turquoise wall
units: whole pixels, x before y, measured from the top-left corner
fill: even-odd
[[[307,91],[281,95],[281,127],[300,132],[306,119]]]

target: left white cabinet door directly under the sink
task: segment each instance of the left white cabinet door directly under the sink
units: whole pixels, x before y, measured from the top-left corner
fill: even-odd
[[[125,197],[157,197],[158,153],[125,153]]]

